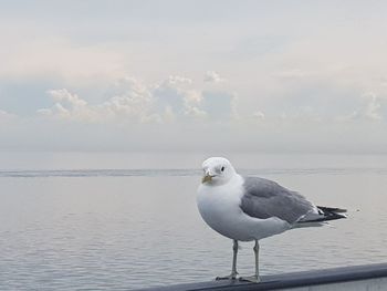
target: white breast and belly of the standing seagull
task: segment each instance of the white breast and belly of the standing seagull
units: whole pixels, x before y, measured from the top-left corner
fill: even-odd
[[[289,229],[289,225],[279,218],[258,219],[245,215],[240,208],[242,185],[243,178],[236,175],[224,185],[199,186],[199,212],[213,230],[230,239],[249,241]]]

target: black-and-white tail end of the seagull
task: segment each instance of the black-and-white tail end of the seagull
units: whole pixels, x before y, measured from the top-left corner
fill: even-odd
[[[347,210],[342,208],[333,208],[333,207],[324,207],[317,206],[317,212],[311,212],[305,215],[297,221],[297,227],[306,227],[306,226],[321,226],[324,222],[330,220],[336,220],[342,218],[347,218],[344,215]]]

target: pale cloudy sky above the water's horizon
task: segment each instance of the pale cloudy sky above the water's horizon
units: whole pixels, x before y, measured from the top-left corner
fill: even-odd
[[[0,150],[387,153],[386,1],[0,3]]]

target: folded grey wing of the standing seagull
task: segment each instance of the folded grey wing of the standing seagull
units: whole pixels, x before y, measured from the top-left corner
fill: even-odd
[[[272,180],[245,177],[243,188],[240,207],[251,217],[260,219],[278,217],[289,224],[295,224],[314,209],[302,195]]]

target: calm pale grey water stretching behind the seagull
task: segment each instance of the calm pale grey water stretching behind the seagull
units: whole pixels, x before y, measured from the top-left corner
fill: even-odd
[[[127,290],[230,272],[196,208],[200,155],[0,155],[0,290]],[[387,261],[387,157],[231,155],[349,219],[261,242],[264,274]],[[239,272],[253,271],[242,243]]]

